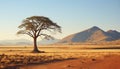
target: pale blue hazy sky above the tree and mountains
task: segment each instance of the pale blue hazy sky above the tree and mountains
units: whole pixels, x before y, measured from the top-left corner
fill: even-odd
[[[17,27],[34,15],[62,26],[56,38],[92,26],[120,31],[120,0],[0,0],[0,40],[25,38],[16,35]]]

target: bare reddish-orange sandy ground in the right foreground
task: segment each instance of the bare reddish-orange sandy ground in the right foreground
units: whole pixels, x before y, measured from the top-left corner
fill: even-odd
[[[20,69],[120,69],[120,56],[100,58],[79,58],[42,65],[22,66]]]

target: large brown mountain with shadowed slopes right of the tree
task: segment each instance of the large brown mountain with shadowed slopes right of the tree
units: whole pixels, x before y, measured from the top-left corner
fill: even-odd
[[[105,32],[97,26],[89,28],[85,31],[78,32],[69,35],[59,43],[71,43],[71,42],[101,42],[101,41],[114,41],[120,39],[120,32],[115,30],[109,30]]]

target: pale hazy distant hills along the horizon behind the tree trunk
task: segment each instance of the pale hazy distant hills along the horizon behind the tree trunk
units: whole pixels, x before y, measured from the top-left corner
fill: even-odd
[[[40,40],[38,45],[47,45],[58,42],[59,39],[54,40]],[[0,40],[0,45],[33,45],[33,42],[27,39],[16,39],[16,40]]]

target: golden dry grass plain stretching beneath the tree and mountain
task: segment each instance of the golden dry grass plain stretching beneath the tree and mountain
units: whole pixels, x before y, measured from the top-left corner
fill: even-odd
[[[45,53],[31,53],[32,46],[0,46],[0,68],[48,62],[73,58],[99,58],[120,55],[116,45],[48,45],[39,46]]]

